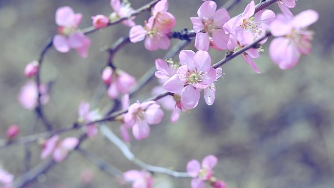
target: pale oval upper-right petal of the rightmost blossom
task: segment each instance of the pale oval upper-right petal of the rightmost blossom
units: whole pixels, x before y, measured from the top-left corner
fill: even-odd
[[[296,15],[292,24],[295,28],[305,28],[313,24],[319,18],[319,14],[314,10],[305,10],[298,15]]]

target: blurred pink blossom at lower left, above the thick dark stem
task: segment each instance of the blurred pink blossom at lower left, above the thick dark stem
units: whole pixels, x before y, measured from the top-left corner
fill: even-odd
[[[57,163],[62,162],[68,155],[68,152],[73,150],[79,144],[79,139],[68,137],[63,140],[59,139],[59,135],[54,135],[43,144],[41,159],[46,159],[52,154],[52,158]]]

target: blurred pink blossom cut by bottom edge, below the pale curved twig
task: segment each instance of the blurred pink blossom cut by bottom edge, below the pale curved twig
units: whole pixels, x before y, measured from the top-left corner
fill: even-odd
[[[129,170],[124,172],[123,178],[132,182],[132,188],[152,188],[153,177],[146,170]]]

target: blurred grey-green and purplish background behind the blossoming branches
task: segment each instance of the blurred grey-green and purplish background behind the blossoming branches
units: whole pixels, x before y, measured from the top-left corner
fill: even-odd
[[[149,0],[132,0],[138,8]],[[216,0],[222,6],[226,0]],[[169,0],[169,12],[177,25],[175,31],[191,29],[189,17],[196,17],[201,0]],[[241,0],[230,10],[235,16],[243,12],[249,0]],[[298,0],[294,14],[306,9],[319,12],[320,18],[311,29],[315,32],[313,52],[301,58],[290,70],[281,70],[268,57],[268,44],[261,58],[255,60],[262,74],[254,73],[241,57],[223,66],[224,78],[217,83],[217,95],[212,106],[200,104],[183,113],[177,123],[164,121],[151,126],[150,136],[143,141],[132,139],[131,150],[144,162],[186,171],[191,159],[202,160],[213,154],[219,163],[215,176],[226,181],[228,188],[333,188],[334,187],[334,17],[333,0]],[[55,11],[71,6],[83,13],[81,28],[91,25],[91,16],[109,15],[109,0],[0,0],[0,138],[5,138],[9,125],[17,124],[24,136],[35,124],[33,111],[25,110],[17,101],[20,87],[27,79],[23,70],[36,60],[50,39],[56,34]],[[277,4],[270,9],[280,12]],[[137,24],[149,18],[143,13]],[[119,24],[89,35],[92,45],[87,59],[72,50],[62,54],[55,49],[47,52],[42,81],[54,84],[50,101],[44,105],[47,118],[55,128],[69,127],[77,119],[77,108],[84,100],[95,102],[97,88],[102,86],[101,72],[107,54],[102,50],[129,28]],[[176,43],[173,40],[173,44]],[[115,56],[114,63],[139,79],[154,60],[165,51],[147,51],[143,42],[128,44]],[[185,49],[194,50],[193,43]],[[212,63],[224,57],[223,52],[210,50]],[[175,57],[178,60],[178,57]],[[154,78],[135,100],[150,97]],[[112,105],[104,92],[97,107]],[[119,134],[119,123],[108,123]],[[36,132],[44,132],[41,122]],[[83,130],[62,134],[79,136]],[[126,171],[138,169],[128,162],[120,150],[99,134],[87,139],[82,147],[113,166]],[[41,162],[41,146],[32,144],[32,166]],[[0,149],[0,164],[15,177],[24,172],[24,146]],[[92,181],[84,185],[83,171],[94,173]],[[158,188],[190,188],[190,179],[175,179],[157,174]],[[33,188],[122,188],[117,179],[101,171],[77,152],[64,162],[41,175]],[[208,186],[209,187],[209,186]]]

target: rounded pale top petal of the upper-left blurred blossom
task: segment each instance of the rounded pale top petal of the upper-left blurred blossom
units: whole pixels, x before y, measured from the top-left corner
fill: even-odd
[[[74,22],[75,13],[69,6],[59,7],[56,11],[56,23],[59,26],[71,27]]]

